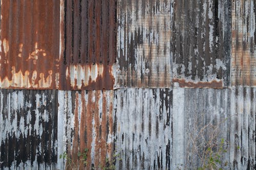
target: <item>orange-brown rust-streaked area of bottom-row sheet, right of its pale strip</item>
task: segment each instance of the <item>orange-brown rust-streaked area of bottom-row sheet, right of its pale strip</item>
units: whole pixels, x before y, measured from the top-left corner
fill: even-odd
[[[89,149],[87,169],[105,166],[106,157],[113,155],[112,95],[104,90],[75,94],[73,148],[69,154],[76,164],[80,163],[79,169],[85,168],[77,157],[79,151]]]

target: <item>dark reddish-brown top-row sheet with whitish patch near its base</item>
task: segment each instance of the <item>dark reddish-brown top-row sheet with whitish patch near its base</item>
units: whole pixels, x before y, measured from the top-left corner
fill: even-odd
[[[113,89],[116,0],[61,1],[60,89]]]

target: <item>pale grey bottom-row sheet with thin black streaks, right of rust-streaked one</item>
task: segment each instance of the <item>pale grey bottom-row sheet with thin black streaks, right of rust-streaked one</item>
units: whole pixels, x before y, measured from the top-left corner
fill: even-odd
[[[117,169],[172,169],[172,89],[115,90]]]

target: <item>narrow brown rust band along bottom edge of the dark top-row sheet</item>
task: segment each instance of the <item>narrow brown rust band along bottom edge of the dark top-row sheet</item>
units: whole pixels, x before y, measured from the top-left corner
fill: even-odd
[[[180,87],[188,87],[188,88],[223,88],[222,80],[212,80],[210,82],[189,82],[184,79],[173,79],[173,82],[179,83]]]

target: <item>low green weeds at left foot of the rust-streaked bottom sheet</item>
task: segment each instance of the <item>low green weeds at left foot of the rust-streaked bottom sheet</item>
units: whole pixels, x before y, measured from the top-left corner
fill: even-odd
[[[66,160],[66,168],[65,169],[79,169],[79,166],[81,164],[86,167],[87,165],[87,154],[88,154],[89,149],[84,149],[83,152],[78,152],[77,153],[77,158],[78,162],[74,162],[74,160],[67,155],[67,152],[63,152],[63,154],[59,155],[59,159],[63,159],[63,161]]]

